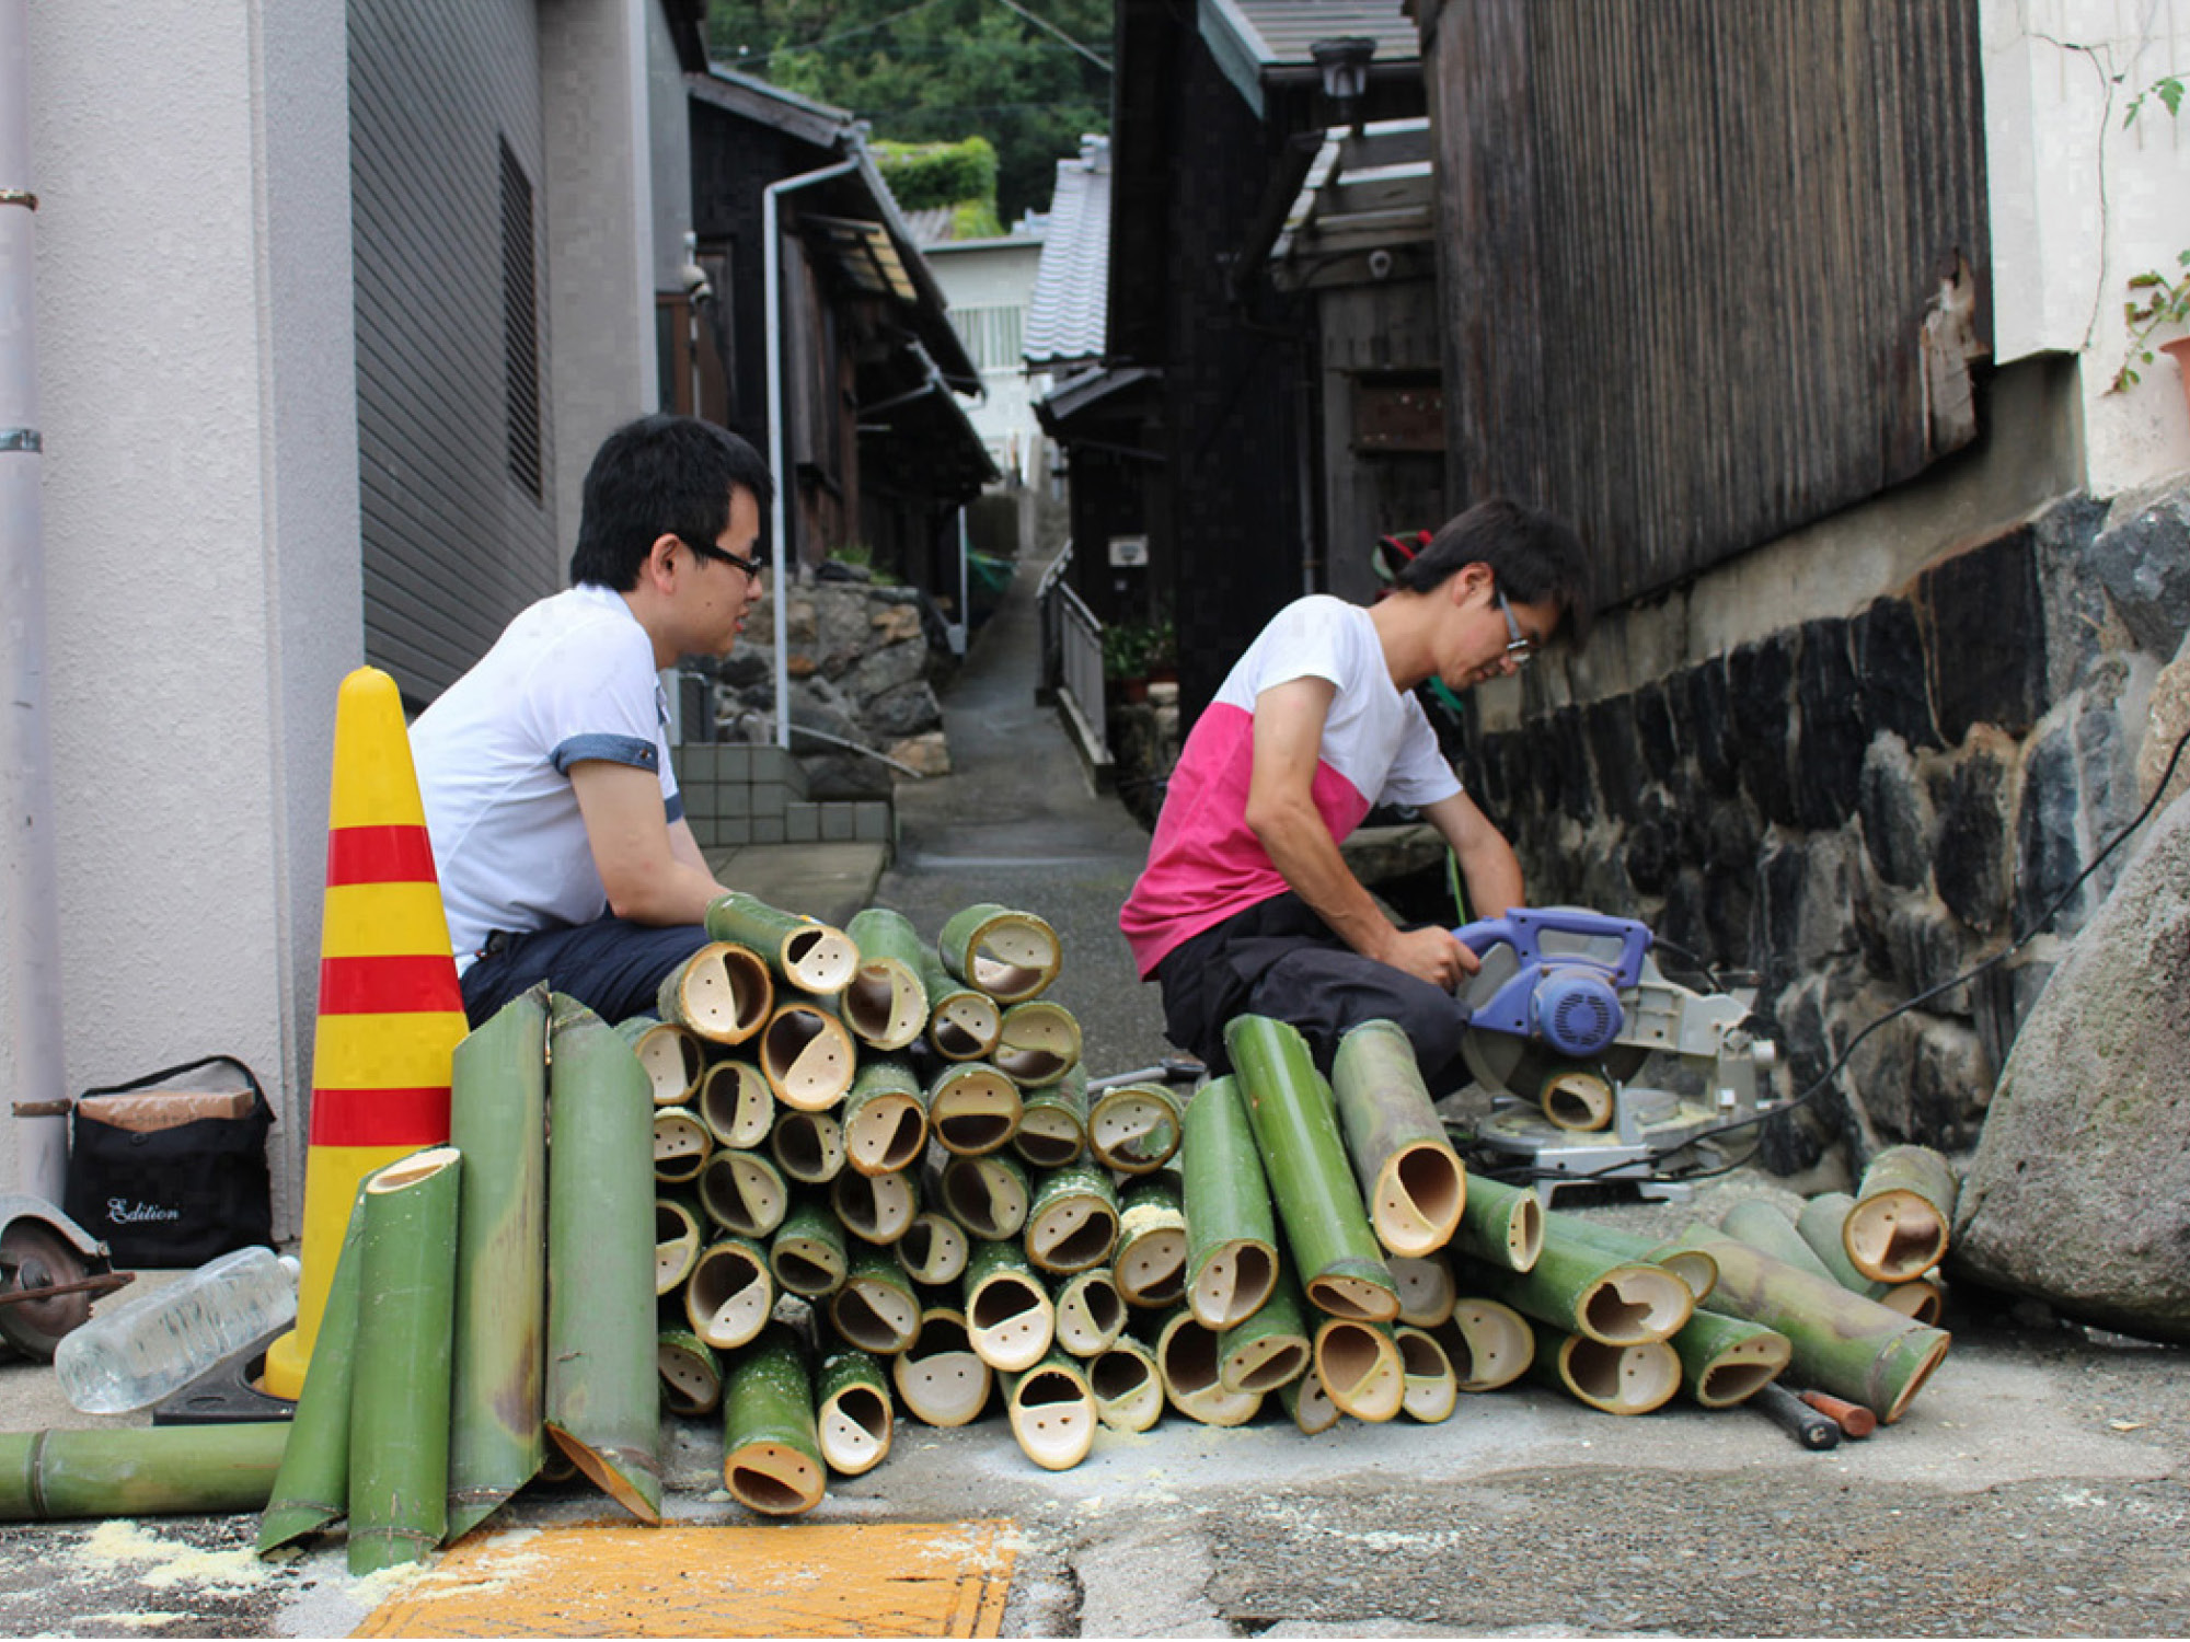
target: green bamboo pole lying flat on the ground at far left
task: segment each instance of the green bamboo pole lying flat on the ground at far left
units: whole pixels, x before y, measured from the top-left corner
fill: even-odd
[[[324,1338],[322,1322],[320,1340]],[[318,1357],[318,1351],[313,1355]],[[309,1375],[304,1386],[311,1386]],[[285,1419],[237,1425],[120,1425],[96,1432],[0,1432],[0,1522],[212,1517],[261,1511],[274,1493],[287,1441]],[[276,1539],[265,1550],[278,1543],[287,1539]]]

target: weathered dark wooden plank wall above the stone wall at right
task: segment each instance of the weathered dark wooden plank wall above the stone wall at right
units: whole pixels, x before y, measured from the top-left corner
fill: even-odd
[[[1421,4],[1448,479],[1581,528],[1599,602],[1943,455],[1918,337],[1986,289],[1975,0]]]

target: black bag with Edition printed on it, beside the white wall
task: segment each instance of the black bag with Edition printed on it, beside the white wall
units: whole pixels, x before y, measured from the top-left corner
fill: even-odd
[[[274,1246],[274,1191],[267,1178],[267,1106],[258,1077],[234,1055],[164,1066],[92,1095],[125,1095],[169,1084],[199,1066],[243,1073],[252,1106],[243,1117],[208,1117],[149,1132],[70,1117],[68,1193],[61,1209],[107,1244],[120,1268],[204,1265],[250,1244]]]

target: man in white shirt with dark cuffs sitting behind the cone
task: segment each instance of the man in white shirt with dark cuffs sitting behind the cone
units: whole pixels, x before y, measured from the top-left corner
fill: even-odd
[[[712,423],[620,427],[585,475],[572,587],[412,725],[473,1025],[537,981],[622,1020],[707,939],[725,884],[683,819],[659,670],[729,655],[771,495],[753,447]]]

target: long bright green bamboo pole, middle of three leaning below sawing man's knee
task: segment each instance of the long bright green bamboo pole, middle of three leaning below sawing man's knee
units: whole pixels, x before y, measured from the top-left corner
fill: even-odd
[[[1388,1322],[1399,1314],[1399,1290],[1369,1228],[1329,1084],[1307,1044],[1281,1020],[1235,1016],[1224,1049],[1307,1303],[1332,1316]]]

